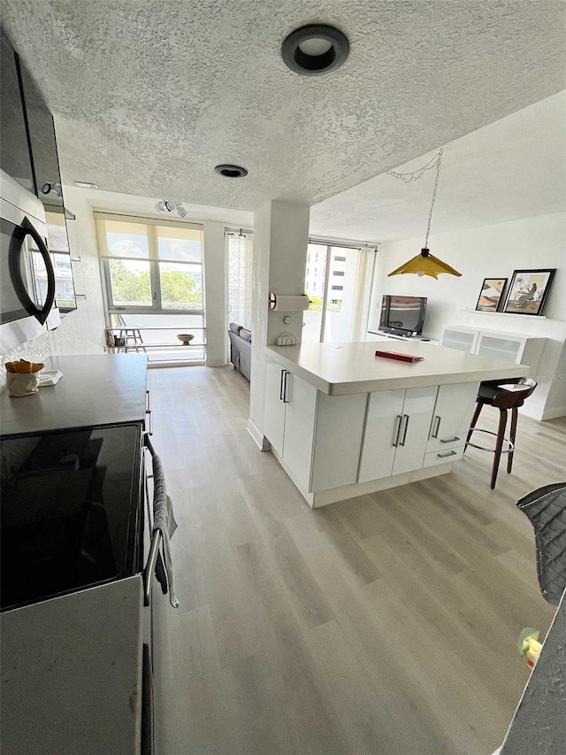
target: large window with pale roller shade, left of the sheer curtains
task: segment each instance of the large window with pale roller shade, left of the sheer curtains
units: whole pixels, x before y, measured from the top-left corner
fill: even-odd
[[[137,348],[149,361],[203,361],[202,227],[106,213],[95,218],[111,336],[138,331],[143,347]],[[184,346],[180,333],[195,337]]]

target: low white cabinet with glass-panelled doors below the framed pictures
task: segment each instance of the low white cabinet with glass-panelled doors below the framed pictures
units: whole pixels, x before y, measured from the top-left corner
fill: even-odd
[[[463,325],[447,325],[442,328],[440,336],[440,346],[516,365],[528,365],[532,368],[533,376],[537,374],[546,343],[546,338],[538,336],[480,330]],[[509,377],[514,375],[509,374]]]

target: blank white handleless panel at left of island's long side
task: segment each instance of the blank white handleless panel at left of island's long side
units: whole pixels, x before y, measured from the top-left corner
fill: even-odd
[[[356,482],[367,402],[367,393],[318,395],[312,492]]]

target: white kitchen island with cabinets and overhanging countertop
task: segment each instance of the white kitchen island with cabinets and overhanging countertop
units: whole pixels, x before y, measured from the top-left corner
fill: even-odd
[[[380,347],[381,348],[381,347]],[[463,456],[480,381],[529,367],[397,342],[265,346],[264,436],[313,507],[447,474]]]

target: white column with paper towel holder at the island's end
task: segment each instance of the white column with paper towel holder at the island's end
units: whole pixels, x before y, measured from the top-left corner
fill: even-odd
[[[310,206],[273,200],[254,214],[254,290],[252,311],[251,385],[249,432],[264,447],[264,345],[281,333],[302,338],[302,312],[272,312],[270,291],[304,293],[304,274],[309,243]],[[292,322],[285,324],[289,314]]]

